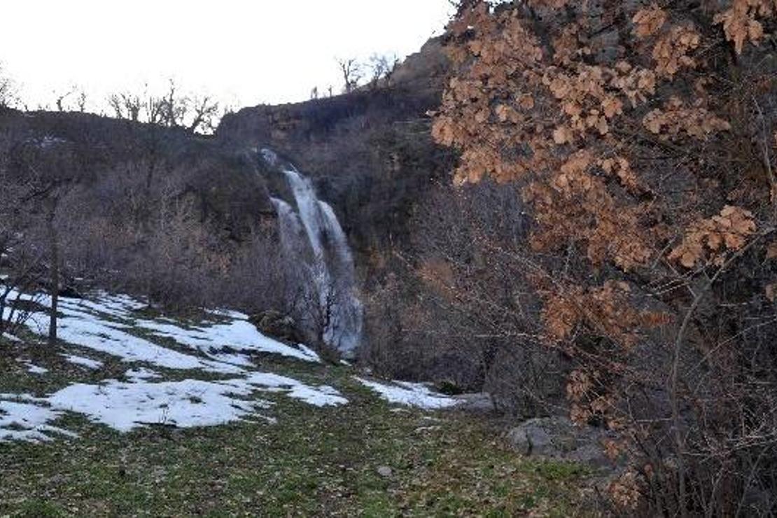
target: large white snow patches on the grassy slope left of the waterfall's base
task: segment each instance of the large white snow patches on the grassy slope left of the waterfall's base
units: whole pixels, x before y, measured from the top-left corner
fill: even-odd
[[[48,303],[45,297],[36,300],[44,306]],[[128,432],[153,425],[186,428],[242,419],[273,421],[262,413],[272,404],[256,397],[263,392],[280,393],[318,407],[348,402],[335,388],[258,371],[251,359],[255,353],[309,363],[321,360],[305,346],[287,346],[262,335],[246,315],[218,311],[212,314],[212,321],[181,325],[169,318],[139,318],[135,311],[143,307],[139,301],[122,295],[99,294],[93,300],[62,299],[58,329],[61,340],[115,356],[132,368],[124,374],[126,381],[71,384],[42,398],[0,394],[0,442],[75,436],[51,424],[64,412],[84,415],[92,422]],[[26,325],[33,333],[45,335],[48,318],[36,314]],[[169,346],[160,345],[156,339]],[[104,365],[77,350],[61,356],[68,363],[95,372]],[[40,376],[48,373],[32,363],[26,363],[26,368]],[[195,377],[201,372],[211,378],[228,378],[165,381],[163,370],[191,371]]]

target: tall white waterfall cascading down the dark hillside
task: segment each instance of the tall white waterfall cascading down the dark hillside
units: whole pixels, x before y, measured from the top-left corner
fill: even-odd
[[[363,311],[347,237],[310,179],[293,168],[284,169],[284,175],[297,210],[284,200],[274,198],[273,203],[284,251],[302,272],[300,291],[312,310],[308,323],[318,328],[327,345],[353,356],[361,340]]]

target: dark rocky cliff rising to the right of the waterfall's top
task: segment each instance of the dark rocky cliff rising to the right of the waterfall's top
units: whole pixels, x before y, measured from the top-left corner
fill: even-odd
[[[414,200],[450,169],[426,115],[440,102],[447,71],[441,40],[430,40],[389,80],[348,95],[240,110],[225,117],[217,140],[234,151],[272,148],[288,158],[315,180],[358,250],[380,247],[402,233]]]

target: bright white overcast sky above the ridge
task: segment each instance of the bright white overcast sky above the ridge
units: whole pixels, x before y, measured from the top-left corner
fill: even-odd
[[[234,106],[340,89],[336,57],[404,57],[441,30],[448,0],[11,0],[0,63],[30,106],[79,85],[110,92],[168,78]]]

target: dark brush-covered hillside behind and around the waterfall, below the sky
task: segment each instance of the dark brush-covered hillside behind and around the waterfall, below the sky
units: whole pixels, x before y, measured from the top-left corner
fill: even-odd
[[[345,231],[359,280],[379,279],[374,273],[388,269],[376,258],[409,242],[413,207],[451,169],[427,116],[447,69],[441,40],[430,40],[377,84],[246,108],[208,137],[84,113],[5,110],[0,174],[21,193],[9,214],[33,248],[47,249],[53,210],[66,283],[86,279],[172,310],[294,313],[300,275],[279,256],[273,198],[297,200],[284,168],[261,151],[312,178],[315,197]],[[30,189],[40,193],[25,204]],[[36,269],[45,277],[46,261]]]

